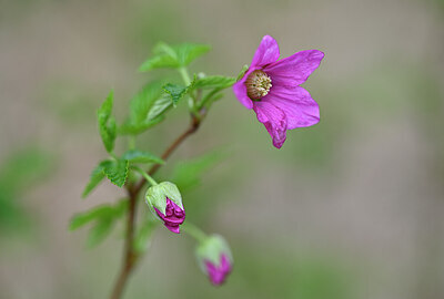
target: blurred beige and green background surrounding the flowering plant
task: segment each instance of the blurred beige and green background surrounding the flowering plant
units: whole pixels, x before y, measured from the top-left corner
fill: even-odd
[[[0,298],[107,298],[123,228],[90,250],[88,229],[68,231],[74,213],[123,196],[107,182],[80,199],[105,156],[95,110],[114,89],[123,121],[131,95],[165,74],[137,72],[160,40],[209,43],[191,71],[234,76],[264,34],[283,56],[326,53],[304,85],[321,123],[278,151],[228,91],[171,162],[228,150],[184,203],[226,237],[234,271],[212,287],[193,241],[160,229],[124,298],[444,298],[437,0],[0,0]],[[139,144],[161,153],[183,110]]]

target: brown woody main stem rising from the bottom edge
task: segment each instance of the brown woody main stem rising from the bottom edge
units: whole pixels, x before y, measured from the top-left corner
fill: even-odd
[[[205,112],[203,112],[205,113]],[[203,115],[201,115],[203,116]],[[190,126],[184,131],[178,138],[163,152],[162,158],[168,159],[171,154],[185,141],[190,135],[198,131],[201,120],[203,117],[195,117],[192,116]],[[161,164],[153,165],[148,174],[151,176],[155,174]],[[128,279],[134,269],[134,266],[138,262],[138,254],[134,251],[133,243],[134,243],[134,230],[135,230],[135,212],[137,212],[137,202],[141,189],[145,183],[145,178],[142,177],[137,184],[134,185],[127,185],[127,190],[129,194],[129,208],[128,208],[128,221],[127,221],[127,236],[125,236],[125,244],[124,244],[124,256],[123,256],[123,264],[120,270],[118,280],[113,287],[113,291],[111,293],[111,299],[120,299],[123,293],[123,289],[128,282]]]

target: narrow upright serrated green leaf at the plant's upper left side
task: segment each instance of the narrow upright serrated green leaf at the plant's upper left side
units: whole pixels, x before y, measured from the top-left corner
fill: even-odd
[[[107,100],[98,110],[99,133],[108,153],[114,148],[117,134],[115,120],[111,116],[113,92],[111,91]]]

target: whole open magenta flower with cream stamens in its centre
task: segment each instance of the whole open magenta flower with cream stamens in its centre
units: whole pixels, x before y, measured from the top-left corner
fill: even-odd
[[[286,130],[311,126],[320,121],[317,103],[299,86],[320,65],[324,53],[317,50],[280,56],[276,41],[263,37],[249,70],[233,85],[233,92],[246,109],[253,109],[265,125],[273,145],[281,148]]]

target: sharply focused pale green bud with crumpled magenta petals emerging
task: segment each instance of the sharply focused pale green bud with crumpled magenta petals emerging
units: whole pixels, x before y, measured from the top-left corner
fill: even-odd
[[[162,182],[147,190],[147,204],[150,210],[160,217],[172,233],[180,234],[179,226],[185,220],[182,195],[170,182]]]

